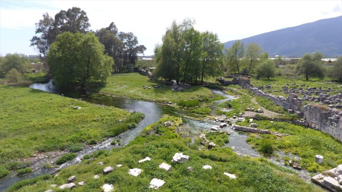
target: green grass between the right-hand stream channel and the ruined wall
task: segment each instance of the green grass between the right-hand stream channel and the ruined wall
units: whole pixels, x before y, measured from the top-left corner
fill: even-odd
[[[286,122],[253,121],[253,123],[257,123],[258,128],[261,129],[290,134],[281,138],[270,134],[261,134],[260,138],[251,134],[247,139],[248,143],[261,152],[263,143],[266,141],[267,145],[272,145],[274,150],[301,157],[302,168],[311,172],[329,170],[342,163],[342,144],[326,133]],[[249,123],[239,122],[237,124],[248,126]],[[324,157],[323,164],[315,162],[314,157],[317,154]]]

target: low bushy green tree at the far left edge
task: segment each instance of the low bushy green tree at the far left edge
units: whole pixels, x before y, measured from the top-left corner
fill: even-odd
[[[8,53],[2,62],[2,71],[7,73],[11,69],[16,69],[22,74],[30,68],[30,60],[24,54]]]

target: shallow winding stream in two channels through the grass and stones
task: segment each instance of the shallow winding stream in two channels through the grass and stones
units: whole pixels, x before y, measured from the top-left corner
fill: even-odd
[[[32,84],[30,88],[42,90],[49,93],[56,93],[59,94],[58,91],[54,88],[52,84],[52,79],[48,81],[48,83],[45,84]],[[226,97],[226,99],[215,101],[215,103],[211,106],[211,115],[216,115],[216,105],[222,102],[225,102],[227,100],[232,100],[236,97],[228,95],[222,91],[218,90],[212,90],[214,94],[223,95]],[[128,99],[124,97],[113,97],[113,96],[107,96],[99,93],[91,94],[87,97],[85,95],[89,95],[89,93],[81,93],[80,91],[72,92],[72,93],[64,93],[66,96],[70,96],[73,98],[82,98],[82,100],[85,100],[87,102],[91,102],[94,104],[101,104],[106,106],[115,106],[121,109],[126,109],[130,112],[141,112],[145,114],[145,118],[142,119],[136,128],[130,129],[124,133],[119,134],[115,138],[107,139],[106,141],[96,144],[94,146],[84,148],[82,151],[77,152],[77,158],[74,160],[68,161],[64,164],[62,164],[59,168],[44,168],[44,164],[51,163],[52,159],[48,158],[41,158],[33,162],[31,168],[33,169],[33,172],[30,174],[27,174],[22,177],[17,177],[15,173],[11,173],[10,176],[5,177],[4,179],[0,180],[0,191],[5,191],[8,187],[13,185],[14,183],[24,180],[24,179],[30,179],[34,177],[38,177],[44,174],[51,174],[55,171],[66,168],[70,166],[71,164],[79,163],[84,155],[91,154],[94,151],[101,150],[101,149],[111,149],[114,147],[119,146],[113,146],[110,145],[112,140],[119,139],[121,146],[127,145],[129,142],[134,140],[136,136],[142,131],[143,128],[150,125],[151,123],[157,122],[163,115],[163,109],[165,106],[153,102],[146,102],[146,101],[138,101],[133,99]],[[80,97],[82,95],[83,97]],[[185,118],[184,126],[189,130],[191,133],[191,137],[199,136],[202,132],[210,131],[210,127],[214,125],[219,125],[219,122],[215,122],[212,120],[202,120],[202,121],[196,121],[192,119]],[[258,152],[256,152],[250,145],[247,144],[246,139],[248,135],[241,134],[239,132],[234,131],[230,128],[230,126],[224,127],[222,131],[230,132],[229,135],[229,143],[226,145],[228,147],[231,147],[231,149],[238,154],[239,156],[251,156],[251,157],[262,157]],[[285,154],[281,154],[285,156]],[[282,162],[278,162],[275,160],[275,158],[268,158],[269,161],[276,163],[278,166],[286,167],[283,165]],[[289,167],[286,167],[289,168]],[[290,168],[291,169],[291,168]],[[294,169],[291,169],[294,170]],[[297,171],[299,175],[304,178],[306,181],[310,179],[309,173],[306,171]]]

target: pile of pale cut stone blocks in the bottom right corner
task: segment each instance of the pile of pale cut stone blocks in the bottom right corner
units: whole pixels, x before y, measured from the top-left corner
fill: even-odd
[[[342,164],[322,174],[313,176],[311,181],[334,192],[342,191]]]

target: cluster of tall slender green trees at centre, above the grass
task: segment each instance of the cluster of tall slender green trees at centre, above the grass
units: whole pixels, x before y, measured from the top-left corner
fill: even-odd
[[[203,77],[221,74],[223,45],[216,34],[200,33],[193,28],[194,21],[173,21],[163,36],[163,43],[155,49],[158,64],[156,76],[177,83],[197,83]]]

